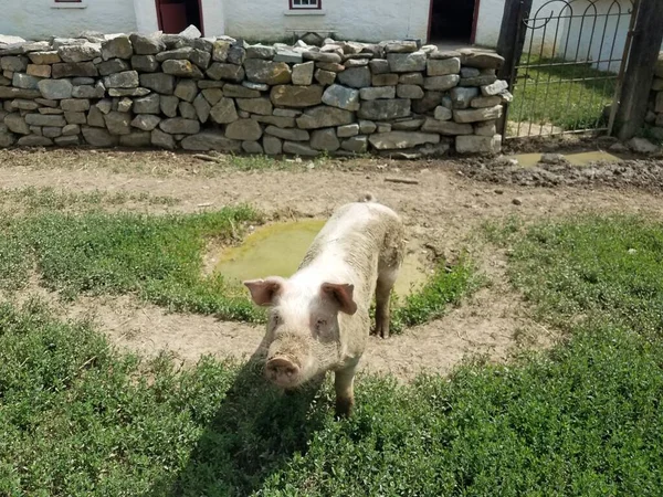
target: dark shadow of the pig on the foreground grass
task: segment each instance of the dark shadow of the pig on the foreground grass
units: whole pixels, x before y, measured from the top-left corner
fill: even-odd
[[[240,369],[183,468],[148,495],[250,495],[306,451],[313,433],[330,416],[324,378],[294,393],[280,392],[262,376],[260,351]]]

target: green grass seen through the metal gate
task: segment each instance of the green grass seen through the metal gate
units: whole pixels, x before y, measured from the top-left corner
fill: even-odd
[[[522,65],[550,64],[564,62],[558,59],[524,56]],[[608,124],[603,107],[612,103],[615,75],[591,67],[590,64],[575,64],[539,68],[519,68],[514,101],[509,106],[509,120],[555,125],[562,130],[592,129]],[[594,78],[578,81],[582,78]],[[599,80],[596,80],[599,78]],[[573,80],[573,81],[570,81]],[[515,134],[517,124],[512,124]],[[527,133],[528,124],[520,126],[520,134]],[[548,126],[549,131],[549,126]],[[533,129],[538,135],[538,129]]]

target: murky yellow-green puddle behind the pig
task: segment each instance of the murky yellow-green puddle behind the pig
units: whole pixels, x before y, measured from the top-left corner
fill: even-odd
[[[288,277],[297,271],[324,225],[323,220],[305,220],[260,226],[241,245],[224,250],[214,271],[234,284],[273,275]],[[407,296],[427,277],[417,254],[410,254],[403,261],[394,290],[399,296]]]

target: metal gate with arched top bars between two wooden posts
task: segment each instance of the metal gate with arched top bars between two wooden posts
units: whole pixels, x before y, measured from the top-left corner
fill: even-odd
[[[538,3],[535,0],[535,4]],[[505,138],[612,131],[639,0],[548,0],[520,10]]]

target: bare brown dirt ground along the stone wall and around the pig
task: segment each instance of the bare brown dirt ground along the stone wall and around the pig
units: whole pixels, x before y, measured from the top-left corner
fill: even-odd
[[[389,181],[394,178],[417,183]],[[238,171],[166,151],[0,150],[0,188],[27,186],[178,199],[171,207],[130,205],[149,212],[197,212],[249,202],[273,219],[327,216],[338,205],[372,192],[403,216],[412,247],[448,258],[470,250],[490,281],[442,319],[387,340],[371,339],[364,370],[393,373],[404,381],[423,370],[446,373],[469,356],[503,361],[523,348],[547,347],[558,338],[529,318],[520,295],[507,282],[504,254],[477,241],[484,222],[513,214],[534,221],[580,212],[655,216],[663,212],[663,162],[654,160],[524,170],[485,159],[375,158],[291,161],[282,170]],[[57,302],[36,283],[32,288]],[[130,296],[84,297],[61,310],[69,317],[94,317],[120,348],[147,356],[166,349],[185,364],[204,353],[246,357],[263,335],[262,327],[170,314]]]

